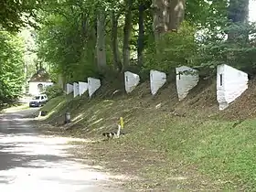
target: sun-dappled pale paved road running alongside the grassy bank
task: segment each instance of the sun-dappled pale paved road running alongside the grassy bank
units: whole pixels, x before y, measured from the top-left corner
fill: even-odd
[[[68,138],[37,133],[31,110],[0,114],[1,192],[114,192],[112,177],[68,153]]]

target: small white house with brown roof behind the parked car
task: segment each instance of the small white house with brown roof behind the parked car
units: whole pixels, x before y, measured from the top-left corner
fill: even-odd
[[[28,81],[28,94],[37,95],[45,91],[46,87],[53,85],[45,69],[38,69]]]

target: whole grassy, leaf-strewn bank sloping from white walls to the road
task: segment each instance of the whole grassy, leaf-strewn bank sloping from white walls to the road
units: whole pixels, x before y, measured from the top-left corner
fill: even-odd
[[[144,177],[128,187],[256,190],[253,81],[224,112],[218,110],[214,80],[201,81],[184,101],[177,100],[173,83],[155,97],[150,95],[149,82],[131,95],[115,95],[110,88],[101,88],[92,100],[62,96],[49,101],[44,107],[49,112],[45,123],[61,126],[69,109],[72,123],[66,133],[101,138],[102,132],[115,130],[123,116],[127,134],[110,142],[87,144],[78,155],[91,156],[111,170]]]

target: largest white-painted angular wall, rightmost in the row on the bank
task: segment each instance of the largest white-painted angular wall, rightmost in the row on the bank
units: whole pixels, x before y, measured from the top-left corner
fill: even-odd
[[[219,102],[219,110],[226,109],[230,102],[235,101],[247,89],[247,73],[225,64],[217,67],[217,101]]]

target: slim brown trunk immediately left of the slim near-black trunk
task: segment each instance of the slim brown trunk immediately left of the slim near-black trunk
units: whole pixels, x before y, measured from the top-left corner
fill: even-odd
[[[123,69],[130,65],[130,38],[132,33],[132,8],[133,0],[125,0],[127,7],[123,27]]]

